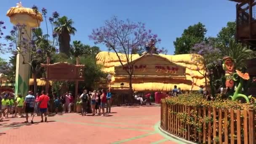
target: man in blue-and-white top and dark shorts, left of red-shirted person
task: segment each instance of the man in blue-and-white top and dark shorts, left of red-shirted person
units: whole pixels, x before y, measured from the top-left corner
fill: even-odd
[[[32,95],[32,91],[29,91],[29,94],[25,97],[24,106],[25,106],[25,113],[26,113],[26,121],[28,123],[29,113],[31,114],[31,123],[33,124],[34,119],[34,107],[35,107],[35,96]]]

